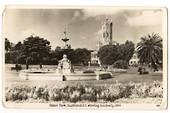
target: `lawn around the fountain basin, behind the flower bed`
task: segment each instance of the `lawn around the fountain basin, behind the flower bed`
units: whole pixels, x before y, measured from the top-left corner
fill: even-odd
[[[139,75],[137,72],[137,68],[129,68],[127,70],[127,73],[113,73],[112,78],[110,79],[103,79],[103,80],[84,80],[84,81],[30,81],[30,80],[21,80],[18,76],[19,72],[11,71],[10,67],[14,65],[5,65],[5,83],[6,84],[13,84],[13,83],[24,83],[24,84],[91,84],[91,85],[102,85],[102,84],[114,84],[116,82],[120,83],[129,83],[129,82],[135,82],[135,83],[150,83],[153,81],[162,81],[162,72],[149,72],[149,74],[146,75]],[[32,67],[38,67],[32,66]],[[56,66],[44,66],[45,68],[55,69]],[[87,67],[81,67],[76,66],[75,70],[84,70]]]

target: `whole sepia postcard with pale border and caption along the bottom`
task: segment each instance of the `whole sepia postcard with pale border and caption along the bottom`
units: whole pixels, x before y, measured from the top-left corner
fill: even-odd
[[[7,5],[7,108],[166,109],[167,9]]]

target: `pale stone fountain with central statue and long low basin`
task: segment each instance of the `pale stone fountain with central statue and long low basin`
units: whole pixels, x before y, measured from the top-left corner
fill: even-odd
[[[90,65],[89,65],[90,68]],[[88,68],[88,69],[89,69]],[[67,55],[63,55],[63,59],[59,61],[57,69],[44,70],[44,69],[29,69],[22,70],[19,73],[19,77],[24,80],[100,80],[111,77],[112,73],[106,71],[74,71],[71,61],[67,58]]]

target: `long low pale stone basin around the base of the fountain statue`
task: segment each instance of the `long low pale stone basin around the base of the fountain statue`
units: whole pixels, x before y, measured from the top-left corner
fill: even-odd
[[[83,71],[75,71],[74,73],[61,74],[56,71],[42,71],[42,70],[22,70],[19,77],[24,80],[100,80],[111,78],[112,73],[104,71],[94,71],[94,73],[83,73]]]

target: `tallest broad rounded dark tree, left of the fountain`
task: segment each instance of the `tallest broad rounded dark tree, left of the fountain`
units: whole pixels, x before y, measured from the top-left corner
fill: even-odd
[[[28,65],[30,59],[33,64],[39,64],[42,67],[43,58],[49,55],[51,50],[50,42],[39,36],[30,36],[24,40],[22,56]]]

